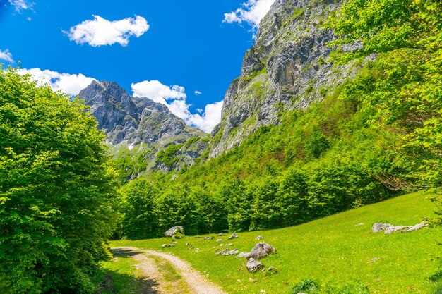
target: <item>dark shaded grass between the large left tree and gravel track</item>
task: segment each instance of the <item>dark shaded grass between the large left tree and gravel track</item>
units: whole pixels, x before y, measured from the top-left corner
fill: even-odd
[[[131,250],[112,250],[114,258],[129,259],[133,255],[138,255],[143,252],[136,252]],[[100,282],[99,289],[96,294],[157,294],[160,293],[159,283],[153,278],[136,277],[133,274],[126,274],[121,270],[106,269],[105,276]]]

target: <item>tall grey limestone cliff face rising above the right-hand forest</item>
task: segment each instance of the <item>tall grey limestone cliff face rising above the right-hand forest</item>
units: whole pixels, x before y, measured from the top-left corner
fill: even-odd
[[[341,5],[341,0],[275,1],[244,56],[241,76],[227,90],[210,157],[236,147],[261,125],[278,123],[281,111],[320,101],[354,73],[354,66],[330,61],[334,49],[327,43],[335,36],[323,29]]]

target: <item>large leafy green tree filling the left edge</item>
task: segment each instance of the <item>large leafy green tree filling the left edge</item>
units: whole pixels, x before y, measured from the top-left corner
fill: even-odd
[[[0,281],[11,293],[91,293],[109,254],[117,193],[104,135],[70,100],[0,70]]]

